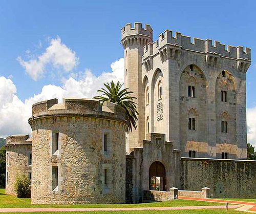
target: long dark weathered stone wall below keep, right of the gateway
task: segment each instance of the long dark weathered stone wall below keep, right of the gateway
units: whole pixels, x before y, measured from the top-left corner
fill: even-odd
[[[181,188],[203,186],[215,198],[255,198],[256,161],[181,158]]]

